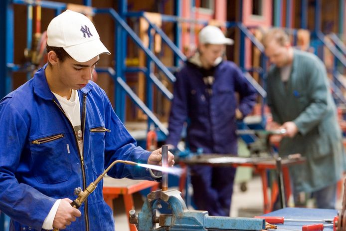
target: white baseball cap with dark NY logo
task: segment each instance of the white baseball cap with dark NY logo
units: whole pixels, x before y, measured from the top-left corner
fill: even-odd
[[[89,61],[103,53],[110,54],[90,19],[69,9],[50,21],[47,36],[48,46],[64,48],[77,62]]]

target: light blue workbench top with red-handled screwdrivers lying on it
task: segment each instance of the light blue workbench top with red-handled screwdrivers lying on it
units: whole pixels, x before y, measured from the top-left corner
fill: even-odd
[[[285,208],[263,215],[263,217],[284,217],[286,219],[299,220],[333,220],[338,215],[337,210],[307,209],[307,208]],[[318,222],[286,222],[277,224],[276,231],[302,231],[304,225],[318,224]],[[324,223],[330,224],[330,223]],[[274,231],[274,230],[273,230]],[[325,227],[324,231],[333,231],[333,227]]]

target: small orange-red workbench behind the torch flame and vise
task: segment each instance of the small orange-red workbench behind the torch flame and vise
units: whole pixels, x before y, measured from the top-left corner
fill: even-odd
[[[131,180],[127,178],[114,179],[111,177],[104,177],[103,179],[103,198],[107,205],[109,205],[114,214],[113,199],[119,195],[124,197],[125,212],[128,215],[129,211],[134,209],[134,201],[132,194],[144,189],[152,188],[157,190],[159,183],[155,181],[144,180]],[[137,231],[135,225],[129,223],[130,231]]]

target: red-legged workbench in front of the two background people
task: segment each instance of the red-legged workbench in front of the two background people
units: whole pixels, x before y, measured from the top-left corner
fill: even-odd
[[[302,164],[306,161],[304,157],[298,158],[283,158],[281,161],[283,180],[285,186],[285,195],[286,198],[291,194],[291,185],[290,185],[290,174],[289,166]],[[222,155],[222,154],[200,154],[193,155],[188,158],[179,158],[176,160],[176,163],[179,163],[182,168],[191,165],[210,165],[212,167],[251,167],[254,168],[256,172],[259,173],[262,180],[263,188],[263,212],[269,213],[272,211],[272,207],[276,198],[271,198],[269,201],[268,198],[268,180],[267,180],[267,170],[276,169],[276,161],[273,157],[237,157],[231,155]],[[186,168],[185,168],[186,169]],[[187,171],[184,171],[184,174],[180,177],[179,180],[179,191],[184,192],[185,182],[186,182]],[[272,193],[273,195],[273,193]]]

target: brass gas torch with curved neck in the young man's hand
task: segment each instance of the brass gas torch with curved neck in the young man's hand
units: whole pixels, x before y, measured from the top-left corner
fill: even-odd
[[[126,165],[138,165],[138,163],[132,162],[132,161],[124,161],[124,160],[114,161],[110,166],[108,166],[108,168],[98,178],[96,178],[94,182],[90,183],[90,185],[84,191],[82,191],[80,187],[75,188],[74,195],[76,195],[77,198],[73,202],[71,202],[70,205],[73,208],[79,209],[79,207],[81,207],[85,199],[96,189],[97,184],[103,179],[106,173],[117,163],[123,163]],[[54,228],[53,231],[59,231],[59,229]]]

